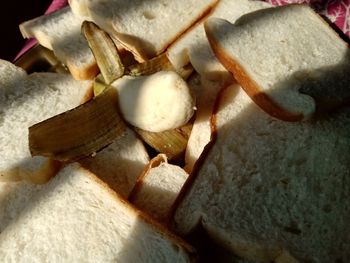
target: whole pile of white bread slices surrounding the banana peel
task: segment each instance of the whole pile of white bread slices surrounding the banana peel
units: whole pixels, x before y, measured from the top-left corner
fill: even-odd
[[[131,125],[78,162],[30,155],[31,125],[92,97],[85,20],[121,56],[193,67],[180,160]],[[0,61],[2,262],[350,262],[350,49],[311,8],[70,0],[20,29],[70,74]]]

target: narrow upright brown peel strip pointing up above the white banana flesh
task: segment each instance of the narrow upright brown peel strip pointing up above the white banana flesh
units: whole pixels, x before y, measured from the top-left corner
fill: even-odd
[[[110,36],[96,24],[84,21],[81,27],[106,84],[124,75],[124,65]]]

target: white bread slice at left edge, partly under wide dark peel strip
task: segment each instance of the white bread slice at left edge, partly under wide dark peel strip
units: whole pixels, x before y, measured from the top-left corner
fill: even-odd
[[[91,95],[91,82],[74,80],[68,74],[34,73],[15,82],[12,89],[19,92],[4,96],[7,88],[0,87],[0,180],[45,182],[60,165],[31,157],[28,128],[85,102]]]

